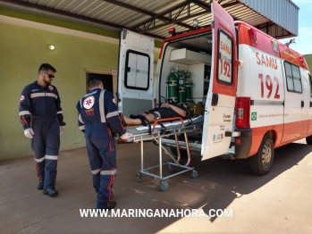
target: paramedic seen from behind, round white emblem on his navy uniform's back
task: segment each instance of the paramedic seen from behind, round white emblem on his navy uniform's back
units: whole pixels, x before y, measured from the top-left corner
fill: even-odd
[[[97,209],[113,209],[116,202],[113,183],[116,169],[114,133],[122,139],[130,134],[124,130],[111,92],[96,77],[88,80],[89,94],[78,102],[78,126],[85,133],[93,187],[97,192]]]

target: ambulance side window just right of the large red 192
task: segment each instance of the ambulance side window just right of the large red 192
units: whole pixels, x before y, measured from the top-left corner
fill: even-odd
[[[302,93],[302,84],[299,67],[294,64],[285,62],[285,72],[287,78],[286,81],[288,91]]]

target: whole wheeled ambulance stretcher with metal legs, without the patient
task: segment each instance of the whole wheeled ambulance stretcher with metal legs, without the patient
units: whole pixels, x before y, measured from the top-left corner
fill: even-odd
[[[162,191],[166,191],[169,188],[168,181],[173,176],[179,175],[181,173],[191,171],[191,175],[193,179],[198,178],[198,171],[195,170],[194,167],[190,167],[190,147],[188,142],[188,135],[187,133],[190,132],[202,132],[202,125],[203,125],[204,117],[202,115],[183,120],[180,117],[175,118],[168,118],[168,119],[161,119],[156,120],[153,124],[149,124],[149,126],[139,126],[133,128],[127,128],[128,132],[131,133],[131,138],[129,138],[128,142],[140,142],[140,159],[141,165],[140,170],[137,172],[137,180],[139,182],[142,181],[142,175],[148,175],[154,180],[159,180],[160,188]],[[187,163],[182,165],[181,162],[181,152],[180,152],[180,145],[179,145],[179,135],[184,134],[186,150],[188,155]],[[162,138],[169,138],[170,136],[174,136],[175,144],[177,148],[177,158],[171,155],[166,148],[162,145]],[[144,141],[154,140],[156,144],[159,146],[159,165],[144,168]],[[173,162],[163,163],[163,154],[162,149],[166,155],[169,155]],[[172,173],[168,176],[163,176],[163,166],[168,165],[168,169],[170,172],[173,172],[174,168],[181,169],[175,173]],[[159,167],[159,174],[152,173],[148,170],[154,169]]]

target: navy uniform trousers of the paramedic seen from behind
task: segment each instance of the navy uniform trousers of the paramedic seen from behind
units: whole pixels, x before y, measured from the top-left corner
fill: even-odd
[[[109,131],[103,123],[86,125],[85,137],[93,187],[97,192],[97,209],[106,208],[114,196],[116,149]]]

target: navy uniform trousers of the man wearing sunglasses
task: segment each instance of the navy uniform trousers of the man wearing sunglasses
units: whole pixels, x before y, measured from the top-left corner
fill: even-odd
[[[44,188],[55,188],[56,167],[60,148],[60,124],[56,117],[32,117],[34,136],[31,147],[34,151],[39,182]]]

